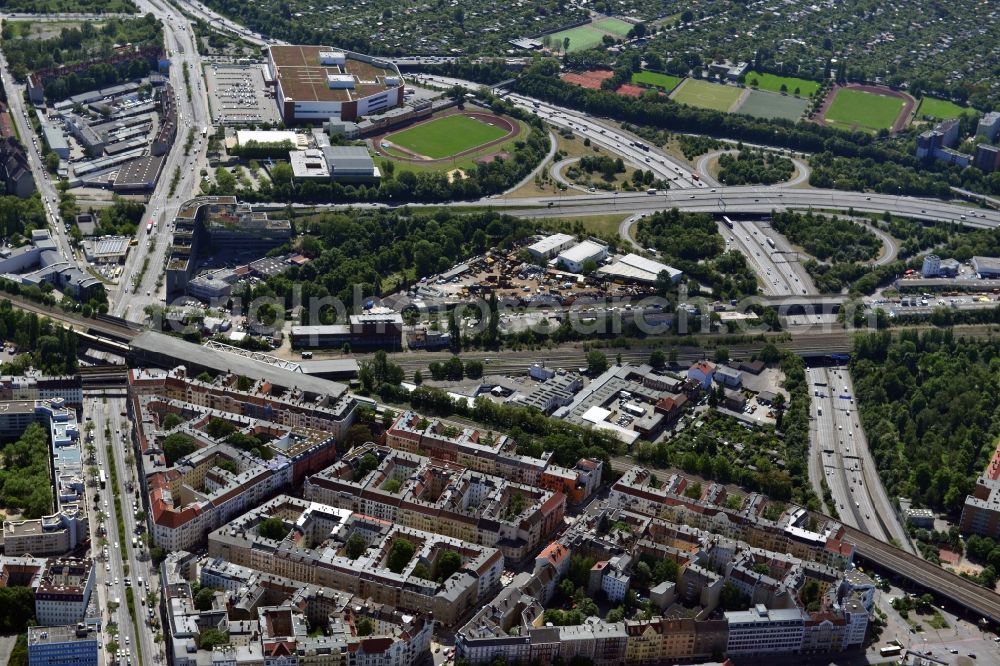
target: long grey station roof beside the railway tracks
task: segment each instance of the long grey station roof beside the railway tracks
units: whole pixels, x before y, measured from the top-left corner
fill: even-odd
[[[143,331],[132,339],[131,347],[140,353],[167,355],[176,361],[174,365],[192,364],[218,372],[233,372],[251,379],[266,379],[283,388],[298,387],[307,393],[331,397],[339,397],[347,392],[347,386],[340,382],[284,370],[236,354],[206,349],[165,333]]]

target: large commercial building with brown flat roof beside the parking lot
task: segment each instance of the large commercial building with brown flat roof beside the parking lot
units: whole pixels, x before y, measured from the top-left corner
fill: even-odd
[[[271,46],[267,62],[286,123],[356,120],[403,103],[403,77],[390,62],[329,46]]]

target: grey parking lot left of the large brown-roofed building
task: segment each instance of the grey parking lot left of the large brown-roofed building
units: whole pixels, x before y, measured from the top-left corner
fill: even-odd
[[[263,65],[211,63],[205,82],[212,122],[216,125],[278,123],[278,105],[268,95]]]

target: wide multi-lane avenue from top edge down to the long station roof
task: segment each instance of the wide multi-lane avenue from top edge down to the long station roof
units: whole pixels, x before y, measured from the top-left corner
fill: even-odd
[[[171,59],[170,83],[177,101],[177,138],[146,206],[144,220],[155,220],[154,233],[147,234],[145,225],[139,225],[139,245],[129,253],[119,289],[110,299],[111,314],[141,322],[145,319],[145,306],[162,301],[157,284],[163,276],[173,221],[180,204],[191,198],[199,186],[200,169],[207,166],[207,141],[200,140],[201,128],[207,127],[210,134],[213,128],[201,59],[190,23],[169,2],[138,0],[138,5],[143,12],[151,12],[159,18],[164,26],[167,53]],[[185,85],[185,71],[190,77],[191,95],[188,95]],[[195,140],[191,154],[185,155],[184,146],[192,129],[198,133],[199,139]],[[171,181],[178,170],[180,179],[171,196]]]

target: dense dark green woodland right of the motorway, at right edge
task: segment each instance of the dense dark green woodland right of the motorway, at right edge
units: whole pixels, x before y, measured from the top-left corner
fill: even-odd
[[[1000,434],[1000,340],[952,329],[856,338],[862,425],[890,495],[957,517]]]

